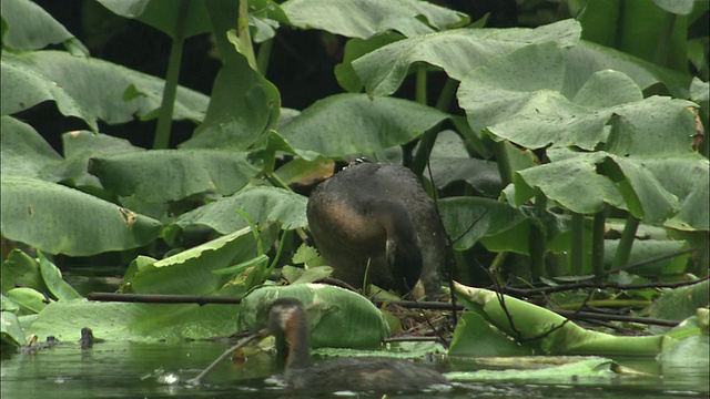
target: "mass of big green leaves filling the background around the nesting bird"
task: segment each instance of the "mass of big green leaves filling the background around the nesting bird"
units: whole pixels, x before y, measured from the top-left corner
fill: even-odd
[[[402,160],[437,192],[442,219],[459,238],[456,278],[495,257],[483,266],[515,270],[508,280],[552,285],[590,270],[615,280],[621,275],[612,267],[688,247],[692,256],[629,273],[708,274],[708,35],[690,33],[707,2],[567,2],[574,16],[535,20],[525,12],[540,2],[518,1],[520,21],[536,28],[505,29],[483,27],[487,18],[469,25],[463,12],[415,0],[99,3],[115,19],[168,34],[168,72],[162,79],[85,57],[41,7],[3,3],[3,246],[19,242],[70,259],[118,253],[133,260],[123,291],[243,295],[268,285],[286,263],[282,252],[305,237],[307,198],[287,185],[326,161],[369,155]],[[284,27],[318,30],[324,47],[342,50],[334,73],[346,93],[282,108],[266,66]],[[179,85],[185,39],[203,33],[221,61],[210,96]],[[59,43],[67,51],[47,49]],[[58,137],[33,113],[48,103],[90,132],[63,133],[54,150]],[[153,129],[155,119],[150,150],[114,136],[119,124]],[[174,134],[179,121],[187,136]],[[610,228],[607,214],[626,227]],[[507,254],[515,260],[498,264]],[[307,272],[286,266],[286,279],[327,276],[312,255],[300,252],[294,263]],[[11,252],[4,260],[3,309],[13,313],[3,339],[23,344],[22,320],[38,335],[73,336],[75,318],[115,339],[231,332],[216,307],[77,299],[43,256]],[[41,304],[44,294],[59,301]],[[333,303],[341,300],[349,299]],[[118,320],[123,329],[113,327]],[[462,326],[495,332],[478,321],[466,316]],[[374,346],[386,332],[372,329]]]

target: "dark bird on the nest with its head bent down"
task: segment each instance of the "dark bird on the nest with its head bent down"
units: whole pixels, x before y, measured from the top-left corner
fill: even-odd
[[[333,277],[410,291],[422,280],[427,295],[440,290],[445,232],[432,198],[399,165],[353,163],[321,183],[308,198],[315,245]]]

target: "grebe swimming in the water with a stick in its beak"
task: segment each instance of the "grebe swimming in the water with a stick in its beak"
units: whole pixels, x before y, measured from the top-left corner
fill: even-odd
[[[268,311],[268,330],[277,340],[288,342],[284,380],[295,389],[400,392],[449,386],[439,372],[402,359],[341,358],[314,365],[306,314],[301,301],[294,298],[274,300]]]

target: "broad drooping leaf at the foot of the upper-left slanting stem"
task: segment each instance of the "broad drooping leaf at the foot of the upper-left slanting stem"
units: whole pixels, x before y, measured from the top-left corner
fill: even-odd
[[[165,203],[206,192],[231,195],[258,170],[246,161],[246,153],[152,150],[93,157],[89,172],[116,195]]]

